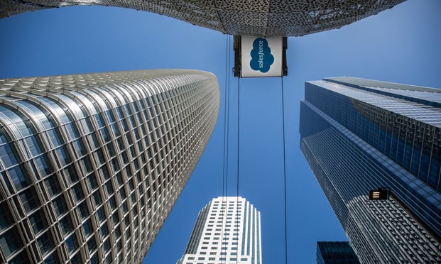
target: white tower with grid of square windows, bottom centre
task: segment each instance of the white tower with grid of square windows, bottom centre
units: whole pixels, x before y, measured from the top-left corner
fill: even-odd
[[[217,197],[197,216],[178,264],[260,264],[261,213],[245,198]]]

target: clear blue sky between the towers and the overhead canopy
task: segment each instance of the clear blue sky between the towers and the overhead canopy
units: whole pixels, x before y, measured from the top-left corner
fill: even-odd
[[[288,263],[314,263],[317,241],[342,231],[299,148],[304,82],[355,76],[441,88],[441,1],[408,0],[338,30],[288,38],[285,135]],[[198,211],[222,195],[227,35],[155,13],[101,6],[0,19],[0,78],[190,68],[213,72],[222,93],[212,138],[144,263],[175,263]],[[237,92],[229,91],[229,195],[236,195]],[[263,263],[284,263],[281,78],[241,79],[239,195],[261,211]]]

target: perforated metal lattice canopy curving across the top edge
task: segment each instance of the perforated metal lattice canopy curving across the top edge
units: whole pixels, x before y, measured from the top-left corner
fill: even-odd
[[[0,18],[62,6],[118,6],[159,13],[229,35],[286,37],[341,28],[403,1],[3,0]]]

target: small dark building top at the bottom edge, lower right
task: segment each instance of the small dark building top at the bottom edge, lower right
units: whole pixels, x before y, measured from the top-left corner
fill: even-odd
[[[316,264],[359,264],[354,250],[346,241],[317,242]]]

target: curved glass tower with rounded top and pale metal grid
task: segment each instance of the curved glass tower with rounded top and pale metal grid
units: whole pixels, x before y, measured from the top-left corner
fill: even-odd
[[[209,140],[217,79],[0,79],[0,263],[141,263]]]

